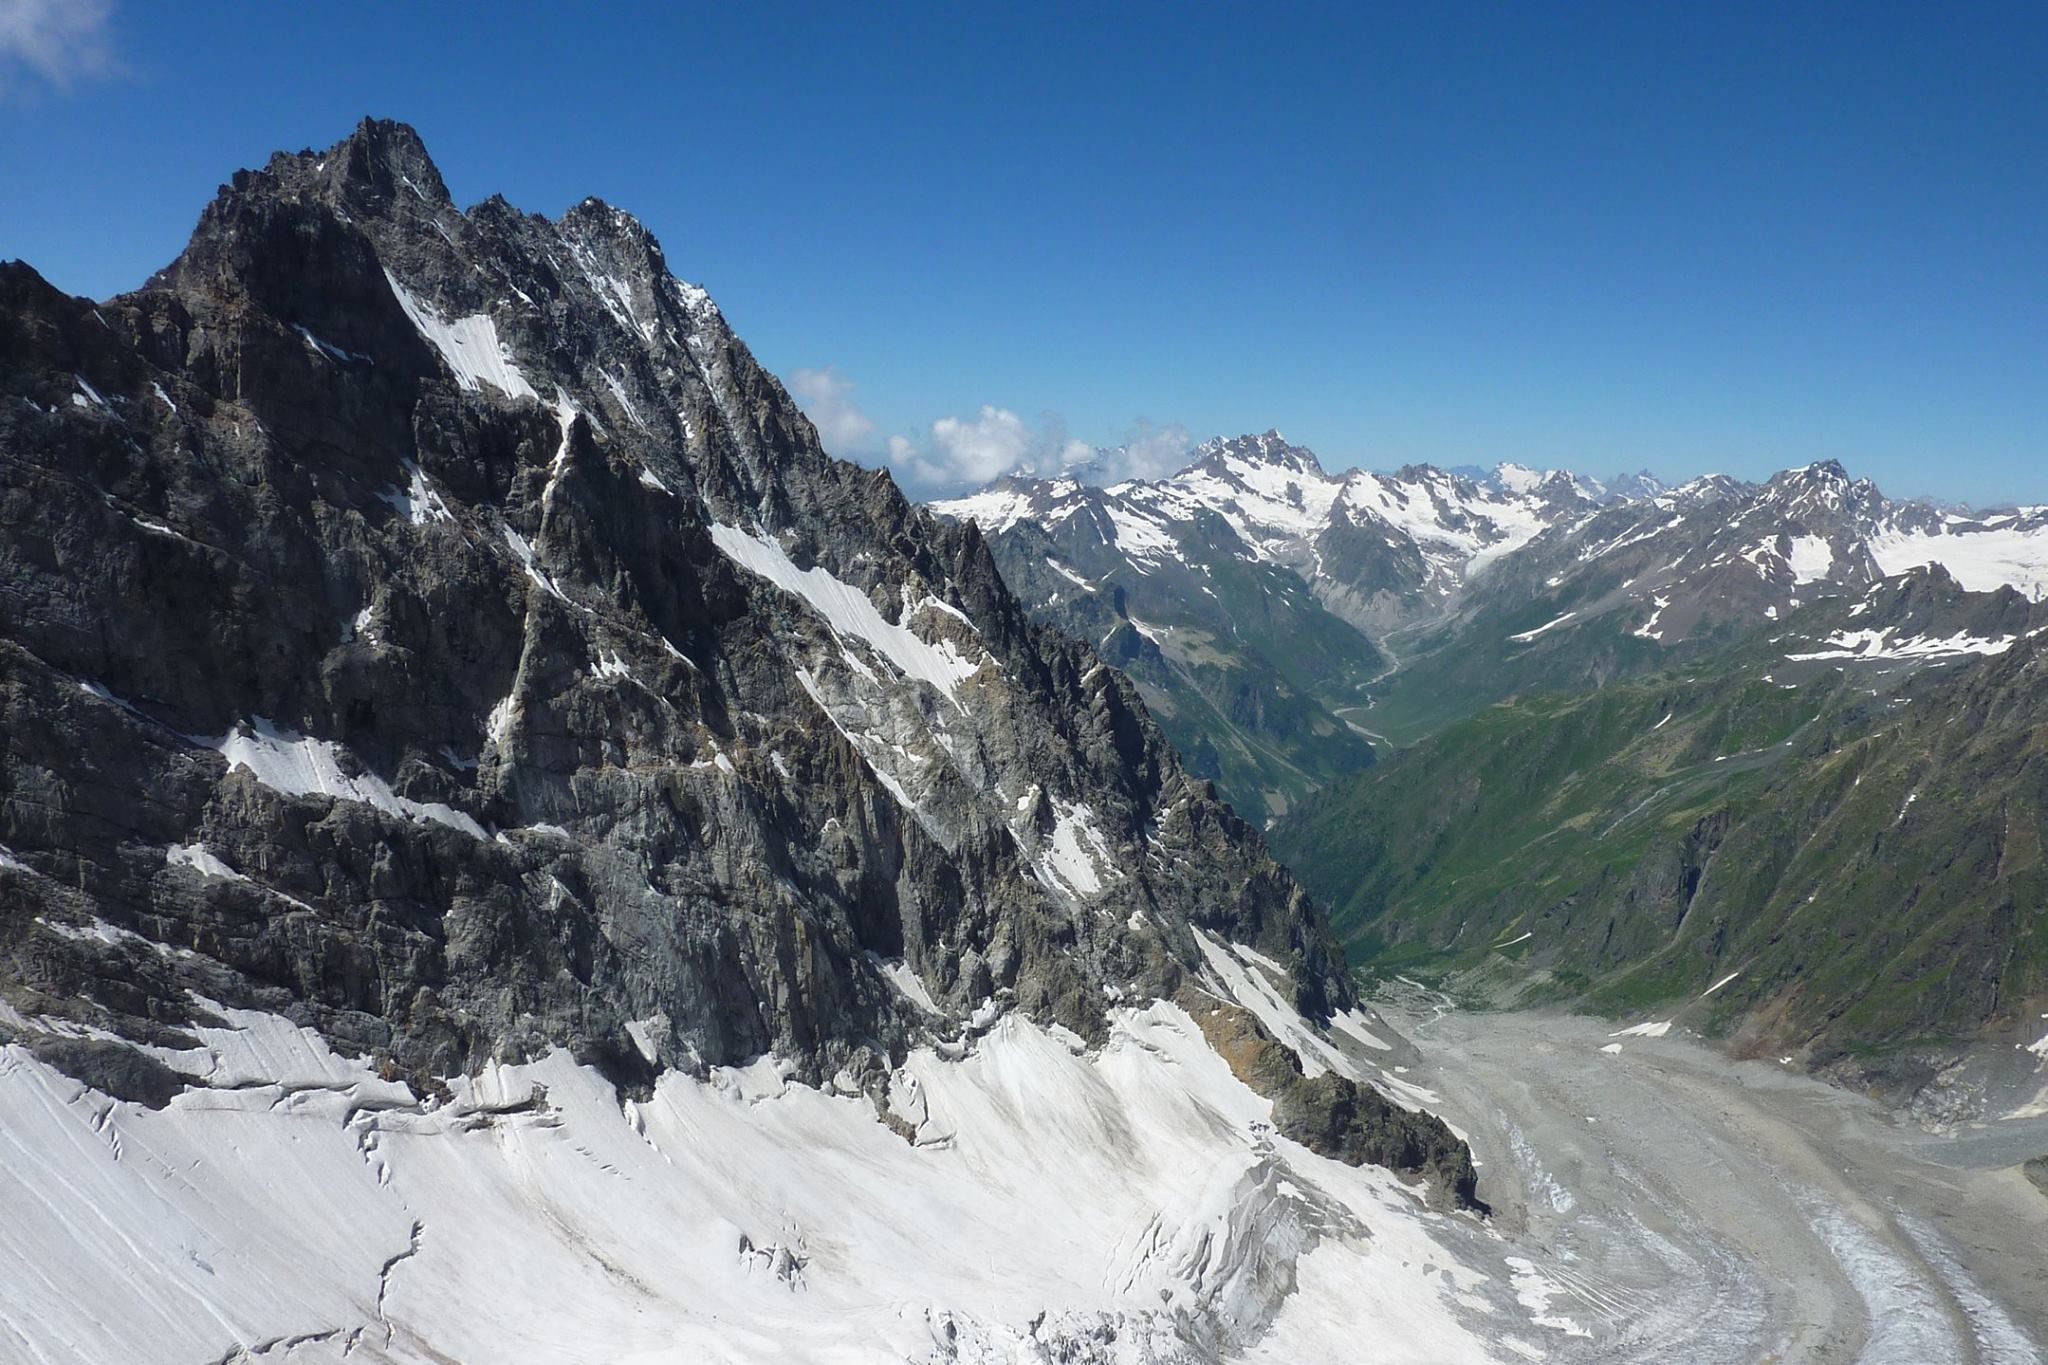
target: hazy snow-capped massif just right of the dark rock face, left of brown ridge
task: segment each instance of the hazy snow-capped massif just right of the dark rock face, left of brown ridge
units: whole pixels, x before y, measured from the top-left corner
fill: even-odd
[[[1190,767],[1264,821],[1372,761],[1346,716],[1393,667],[1376,639],[1442,618],[1473,573],[1604,497],[1511,465],[1329,475],[1266,432],[1169,479],[1012,477],[932,510],[979,524],[1032,612],[1116,659]]]

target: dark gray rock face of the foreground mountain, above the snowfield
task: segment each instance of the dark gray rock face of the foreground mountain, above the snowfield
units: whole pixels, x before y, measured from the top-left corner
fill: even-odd
[[[819,1078],[991,997],[1100,1033],[1194,927],[1352,1001],[1133,686],[608,205],[459,211],[367,121],[133,295],[0,266],[0,1029]]]

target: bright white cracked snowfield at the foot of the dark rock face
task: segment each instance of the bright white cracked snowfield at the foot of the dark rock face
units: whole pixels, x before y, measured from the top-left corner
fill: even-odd
[[[1264,1124],[1171,1005],[913,1052],[918,1144],[764,1058],[647,1103],[555,1054],[422,1107],[223,1011],[162,1111],[0,1050],[0,1357],[1473,1361],[1516,1289]],[[1499,1326],[1513,1328],[1511,1320]]]

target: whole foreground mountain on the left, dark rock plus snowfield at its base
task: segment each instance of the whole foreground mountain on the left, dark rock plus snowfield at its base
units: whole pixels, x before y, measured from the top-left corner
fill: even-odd
[[[135,293],[0,266],[0,1355],[1206,1361],[1337,1330],[1311,1254],[1430,1359],[1513,1304],[1257,831],[600,201],[367,121]]]

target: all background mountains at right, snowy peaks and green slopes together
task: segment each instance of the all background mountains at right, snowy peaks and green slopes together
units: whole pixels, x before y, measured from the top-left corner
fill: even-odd
[[[1739,972],[1712,1027],[1909,1091],[2044,990],[2048,508],[1833,460],[1331,475],[1266,432],[934,510],[1130,671],[1368,968],[1616,1011]]]

